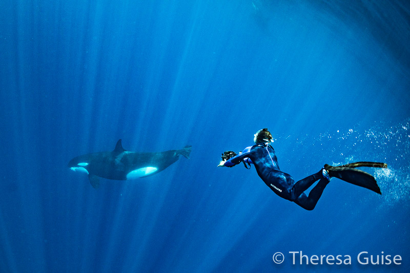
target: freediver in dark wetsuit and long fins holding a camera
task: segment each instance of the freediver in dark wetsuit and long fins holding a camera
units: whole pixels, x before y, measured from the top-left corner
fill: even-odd
[[[250,164],[254,164],[259,177],[274,193],[286,200],[295,202],[308,211],[315,208],[324,188],[332,177],[337,177],[343,181],[365,187],[381,194],[376,179],[372,175],[354,168],[385,168],[387,167],[385,163],[355,162],[341,166],[325,164],[316,174],[295,182],[292,176],[280,171],[275,150],[270,145],[270,143],[273,142],[273,137],[267,128],[256,132],[254,142],[255,145],[245,148],[243,152],[238,155],[232,151],[224,152],[222,154],[222,161],[219,162],[218,167],[233,167],[240,162],[243,162],[245,167],[247,167],[246,163],[248,163],[249,166]],[[247,169],[249,168],[247,167]],[[304,192],[318,180],[319,182],[312,188],[309,196],[307,196]]]

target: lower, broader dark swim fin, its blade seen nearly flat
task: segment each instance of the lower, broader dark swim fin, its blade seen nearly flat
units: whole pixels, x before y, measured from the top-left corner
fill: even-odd
[[[362,162],[356,162],[356,163],[362,163]],[[356,163],[351,163],[351,166],[355,166],[354,164]],[[374,162],[371,162],[371,163],[374,163]],[[384,164],[384,163],[381,163],[381,164]],[[364,166],[364,165],[362,164],[360,166]],[[325,164],[324,169],[329,173],[330,177],[336,177],[348,183],[361,186],[375,193],[381,194],[380,188],[377,185],[377,181],[371,174],[368,174],[361,170],[354,169],[353,167],[345,167],[345,165],[331,166],[331,165]]]

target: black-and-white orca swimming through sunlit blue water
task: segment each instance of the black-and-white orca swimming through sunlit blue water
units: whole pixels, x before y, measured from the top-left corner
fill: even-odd
[[[72,171],[86,173],[91,185],[98,188],[98,177],[112,180],[131,180],[151,176],[176,162],[179,155],[189,159],[191,150],[192,146],[188,145],[181,150],[136,153],[122,148],[121,139],[119,139],[114,151],[74,157],[68,163],[68,167]]]

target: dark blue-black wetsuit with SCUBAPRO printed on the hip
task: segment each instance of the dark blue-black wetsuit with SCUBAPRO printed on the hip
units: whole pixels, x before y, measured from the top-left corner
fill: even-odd
[[[329,180],[323,177],[322,170],[295,182],[292,176],[280,171],[275,150],[268,143],[258,143],[247,147],[241,154],[227,160],[224,165],[229,167],[237,165],[241,161],[254,164],[259,177],[273,192],[305,209],[315,208],[325,186],[329,183]],[[306,196],[303,192],[319,179],[320,181],[309,193],[309,196]]]

